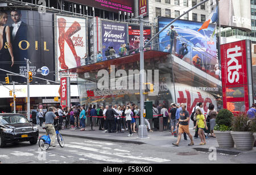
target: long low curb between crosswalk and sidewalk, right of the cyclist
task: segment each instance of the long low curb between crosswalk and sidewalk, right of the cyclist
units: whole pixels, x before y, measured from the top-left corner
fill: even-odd
[[[39,131],[40,134],[46,134],[46,132]],[[130,141],[130,140],[119,140],[119,139],[106,139],[106,138],[97,138],[92,136],[82,136],[82,135],[71,135],[71,134],[61,134],[63,136],[69,136],[73,138],[81,138],[81,139],[91,139],[91,140],[100,140],[100,141],[108,141],[108,142],[119,142],[119,143],[133,143],[133,144],[145,144],[143,142],[138,141]]]

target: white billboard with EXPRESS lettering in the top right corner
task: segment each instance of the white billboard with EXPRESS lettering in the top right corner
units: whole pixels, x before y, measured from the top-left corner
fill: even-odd
[[[218,3],[221,25],[251,31],[250,0],[219,1]]]

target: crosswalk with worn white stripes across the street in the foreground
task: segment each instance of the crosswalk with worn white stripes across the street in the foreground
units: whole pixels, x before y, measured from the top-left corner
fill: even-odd
[[[64,148],[58,145],[55,148],[50,147],[47,151],[41,151],[36,144],[33,148],[23,149],[25,151],[13,151],[0,154],[2,162],[22,158],[24,160],[33,160],[34,163],[72,163],[82,161],[83,163],[131,163],[131,164],[152,164],[152,163],[171,163],[170,159],[148,156],[141,153],[138,155],[127,149],[129,144],[120,146],[118,143],[100,142],[94,140],[72,140],[65,143]],[[138,149],[138,148],[137,148]],[[17,149],[18,150],[18,149]],[[1,150],[0,150],[1,151]]]

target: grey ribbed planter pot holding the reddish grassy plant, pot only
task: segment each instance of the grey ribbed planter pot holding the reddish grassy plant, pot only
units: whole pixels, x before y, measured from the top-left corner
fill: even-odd
[[[237,150],[253,150],[253,133],[231,131],[231,135]]]

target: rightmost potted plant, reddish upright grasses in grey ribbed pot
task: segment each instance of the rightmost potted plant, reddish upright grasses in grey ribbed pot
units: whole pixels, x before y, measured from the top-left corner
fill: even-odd
[[[234,116],[231,135],[237,150],[253,150],[254,137],[245,113]]]

